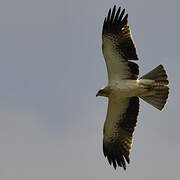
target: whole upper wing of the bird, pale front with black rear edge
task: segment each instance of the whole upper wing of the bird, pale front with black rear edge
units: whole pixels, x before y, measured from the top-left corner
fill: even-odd
[[[138,65],[128,60],[138,60],[135,44],[133,43],[128,26],[128,14],[124,16],[125,9],[119,7],[104,20],[102,32],[102,49],[106,61],[108,79],[117,81],[121,79],[137,79]]]

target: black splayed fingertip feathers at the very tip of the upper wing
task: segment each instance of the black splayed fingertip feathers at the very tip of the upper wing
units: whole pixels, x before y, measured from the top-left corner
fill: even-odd
[[[103,24],[103,34],[104,33],[116,33],[119,32],[126,24],[127,24],[127,18],[128,14],[125,14],[125,9],[121,11],[121,7],[118,8],[116,11],[116,6],[114,5],[112,11],[111,8],[108,11],[108,15],[105,18]]]

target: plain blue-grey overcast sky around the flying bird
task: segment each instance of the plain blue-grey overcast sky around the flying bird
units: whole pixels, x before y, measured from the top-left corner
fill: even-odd
[[[126,8],[140,75],[166,68],[162,112],[141,101],[127,171],[102,152],[104,17]],[[179,0],[0,1],[0,179],[178,179]]]

